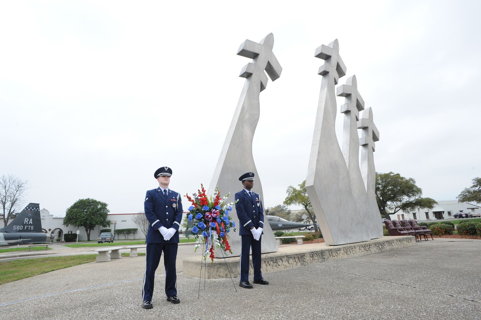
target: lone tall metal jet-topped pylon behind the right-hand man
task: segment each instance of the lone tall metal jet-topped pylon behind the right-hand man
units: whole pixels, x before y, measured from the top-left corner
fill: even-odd
[[[259,43],[245,40],[237,52],[238,55],[253,60],[242,68],[239,75],[246,80],[208,189],[212,193],[218,186],[221,192],[232,192],[228,201],[234,201],[234,193],[241,190],[242,185],[239,177],[245,172],[255,173],[256,179],[253,191],[259,193],[261,200],[264,201],[262,184],[259,179],[262,175],[259,175],[255,168],[252,142],[255,128],[259,122],[259,94],[267,86],[266,73],[274,81],[280,77],[282,72],[282,67],[272,52],[273,46],[274,36],[270,33]],[[233,208],[231,215],[236,222],[236,226],[239,226],[235,208]],[[265,221],[267,221],[266,218]],[[233,232],[229,233],[229,236],[233,256],[240,256],[241,237],[238,233]],[[276,251],[278,251],[278,247],[274,233],[269,224],[265,223],[262,253]],[[216,257],[221,257],[217,255],[216,252]]]

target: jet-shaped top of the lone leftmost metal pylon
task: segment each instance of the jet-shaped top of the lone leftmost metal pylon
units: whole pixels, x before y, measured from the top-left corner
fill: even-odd
[[[267,77],[264,70],[272,81],[278,79],[282,72],[282,67],[272,52],[273,47],[274,35],[269,33],[260,43],[245,40],[237,51],[238,55],[253,59],[252,63],[248,63],[242,68],[239,77],[248,78],[252,75],[258,75],[261,82],[261,91],[266,89],[267,86]]]

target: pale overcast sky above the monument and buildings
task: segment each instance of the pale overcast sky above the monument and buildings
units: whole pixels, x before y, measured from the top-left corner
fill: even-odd
[[[25,205],[54,216],[88,197],[115,214],[143,210],[160,166],[172,167],[170,188],[181,194],[208,187],[251,61],[236,52],[272,32],[283,70],[261,92],[253,141],[266,207],[306,178],[323,64],[314,52],[335,38],[347,66],[339,84],[356,75],[380,132],[376,171],[455,200],[481,175],[480,9],[479,1],[1,1],[0,174],[28,180]]]

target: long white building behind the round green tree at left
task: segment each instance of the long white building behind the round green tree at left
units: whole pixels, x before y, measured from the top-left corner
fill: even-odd
[[[186,212],[183,213],[182,219],[184,219]],[[90,240],[96,240],[97,236],[100,234],[100,230],[102,229],[111,229],[112,232],[116,229],[128,229],[128,228],[137,228],[139,229],[135,236],[130,235],[130,239],[145,239],[145,235],[139,228],[132,218],[136,215],[143,215],[143,213],[125,213],[125,214],[110,214],[109,219],[112,222],[110,227],[101,227],[96,226],[94,230],[90,231]],[[85,228],[75,228],[72,225],[65,227],[63,225],[63,218],[54,217],[49,210],[42,209],[40,210],[40,217],[42,217],[42,229],[46,230],[47,233],[53,233],[58,237],[60,237],[61,241],[63,241],[63,234],[65,233],[76,233],[79,230],[78,241],[87,241],[87,231]],[[117,237],[116,237],[117,238]],[[123,240],[125,239],[124,235],[119,235],[116,240]]]

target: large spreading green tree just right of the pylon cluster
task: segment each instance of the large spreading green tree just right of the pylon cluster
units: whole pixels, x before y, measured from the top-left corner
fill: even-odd
[[[434,199],[422,198],[421,195],[422,189],[416,185],[415,179],[406,179],[399,173],[376,172],[376,200],[381,215],[386,219],[391,220],[389,215],[401,210],[432,209],[438,204]]]

